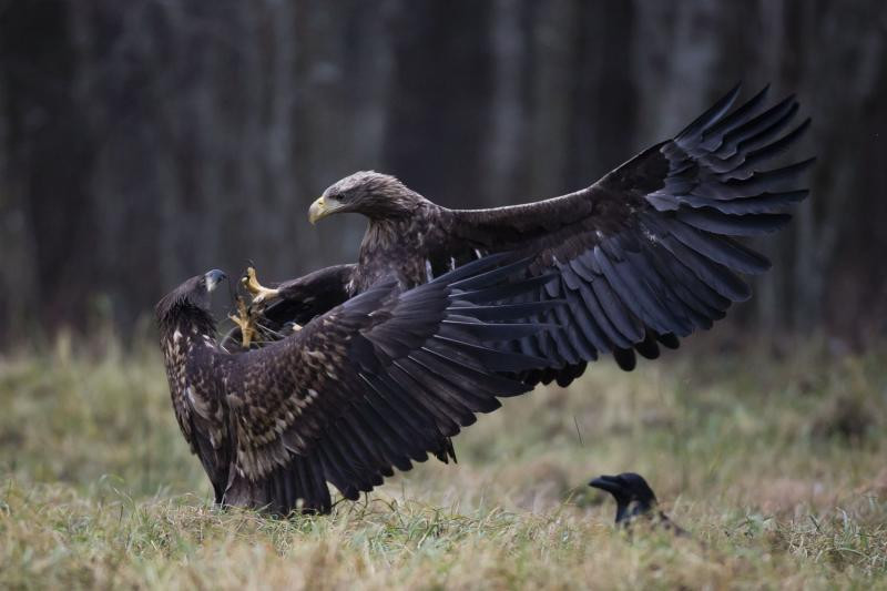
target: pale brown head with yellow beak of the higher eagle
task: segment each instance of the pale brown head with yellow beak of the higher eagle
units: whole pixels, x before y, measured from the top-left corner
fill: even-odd
[[[390,174],[360,171],[330,185],[312,203],[312,224],[334,213],[364,214],[370,220],[409,215],[422,197]]]

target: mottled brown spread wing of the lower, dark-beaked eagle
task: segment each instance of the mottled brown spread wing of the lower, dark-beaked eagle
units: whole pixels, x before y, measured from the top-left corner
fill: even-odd
[[[528,389],[497,371],[543,364],[485,345],[538,332],[509,320],[552,306],[483,305],[548,281],[503,284],[516,264],[491,268],[502,261],[404,293],[394,282],[377,285],[296,335],[236,356],[227,397],[236,476],[226,500],[286,513],[302,499],[303,509],[323,512],[327,481],[356,499],[392,468],[409,470],[429,452],[453,457],[449,438],[477,412]]]

